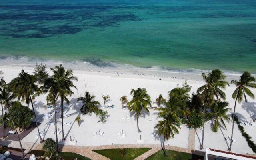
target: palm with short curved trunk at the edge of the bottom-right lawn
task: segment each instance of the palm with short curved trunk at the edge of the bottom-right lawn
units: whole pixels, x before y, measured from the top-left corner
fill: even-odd
[[[180,121],[179,118],[176,116],[176,114],[165,114],[163,116],[160,115],[160,117],[163,120],[159,120],[158,124],[156,124],[155,129],[158,130],[158,134],[160,136],[164,137],[163,140],[163,146],[161,144],[162,150],[164,152],[164,154],[166,156],[168,156],[166,150],[165,150],[165,146],[164,146],[164,142],[165,140],[168,140],[169,138],[174,138],[174,134],[178,134],[179,130],[178,128],[180,128]]]

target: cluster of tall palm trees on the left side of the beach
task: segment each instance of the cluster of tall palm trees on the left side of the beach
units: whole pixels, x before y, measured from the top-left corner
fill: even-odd
[[[18,74],[18,77],[14,78],[9,84],[5,84],[4,79],[1,79],[0,82],[0,101],[2,106],[2,124],[4,125],[4,108],[8,110],[10,113],[10,107],[15,102],[15,100],[21,100],[22,102],[26,102],[26,104],[31,104],[32,110],[34,112],[34,118],[36,122],[36,128],[38,130],[38,136],[40,138],[40,143],[44,140],[40,135],[40,131],[38,128],[38,122],[36,118],[36,113],[33,105],[33,100],[36,96],[39,96],[44,93],[48,93],[46,96],[47,104],[52,104],[55,110],[55,133],[56,133],[56,154],[58,154],[58,136],[57,136],[57,118],[56,118],[56,101],[60,98],[60,108],[61,108],[61,118],[62,118],[62,140],[64,138],[64,129],[63,129],[63,108],[64,101],[68,104],[69,100],[67,96],[71,96],[73,94],[71,88],[76,88],[73,84],[73,81],[77,81],[77,78],[73,76],[72,70],[65,70],[62,65],[56,66],[55,68],[51,68],[53,71],[53,75],[51,77],[45,78],[41,80],[38,78],[38,75],[28,74],[24,70]],[[12,116],[10,114],[10,118],[12,120]],[[15,131],[16,126],[12,120]],[[3,128],[5,128],[3,126]],[[17,132],[18,133],[18,132]],[[20,137],[18,136],[19,142]],[[4,135],[5,136],[5,135]],[[20,142],[20,148],[22,149],[22,144]],[[22,155],[24,156],[23,149]]]

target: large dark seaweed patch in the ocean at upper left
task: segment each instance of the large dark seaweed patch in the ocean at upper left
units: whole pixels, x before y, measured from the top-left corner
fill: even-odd
[[[118,9],[112,6],[2,5],[0,9],[5,10],[0,13],[0,35],[13,38],[74,34],[93,27],[140,20],[134,14],[116,12]]]

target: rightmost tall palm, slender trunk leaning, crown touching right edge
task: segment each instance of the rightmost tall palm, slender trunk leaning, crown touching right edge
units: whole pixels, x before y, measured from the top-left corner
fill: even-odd
[[[232,98],[235,100],[235,106],[234,106],[234,113],[233,113],[233,124],[232,124],[232,133],[231,133],[231,141],[230,141],[230,147],[228,150],[231,151],[232,146],[232,138],[233,138],[233,131],[234,131],[234,118],[236,114],[236,101],[238,100],[238,103],[241,103],[243,98],[245,99],[245,102],[247,102],[246,94],[254,99],[254,94],[249,90],[250,88],[256,88],[256,84],[252,83],[255,82],[255,78],[251,76],[251,74],[247,71],[245,71],[241,76],[239,81],[232,80],[231,84],[236,85],[236,89],[234,93],[232,94]]]

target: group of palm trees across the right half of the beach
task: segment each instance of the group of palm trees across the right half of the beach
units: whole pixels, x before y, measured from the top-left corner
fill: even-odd
[[[203,73],[202,78],[206,82],[205,85],[201,86],[197,90],[197,94],[193,94],[190,98],[188,92],[191,87],[185,82],[182,87],[177,86],[169,92],[168,100],[165,100],[160,94],[156,98],[156,103],[158,108],[158,117],[161,118],[155,128],[158,130],[158,134],[163,136],[163,146],[162,150],[164,154],[167,152],[164,148],[164,141],[169,138],[174,138],[174,134],[178,134],[178,128],[184,117],[190,116],[192,111],[202,113],[202,142],[200,143],[200,150],[203,149],[204,144],[204,123],[206,120],[214,121],[212,130],[214,132],[218,131],[218,128],[223,127],[226,129],[224,121],[229,122],[228,112],[231,108],[228,107],[228,102],[224,101],[226,99],[226,94],[222,91],[226,86],[230,84],[225,81],[226,76],[223,72],[214,69],[212,72],[207,74]],[[238,81],[232,80],[231,84],[236,85],[236,89],[232,94],[232,98],[235,100],[234,113],[232,114],[232,133],[231,139],[233,137],[234,130],[234,116],[236,113],[236,102],[240,103],[243,98],[247,102],[246,96],[254,98],[254,94],[249,88],[256,88],[255,78],[251,76],[249,72],[244,72]],[[138,88],[137,90],[132,89],[132,100],[127,103],[130,112],[135,114],[137,119],[138,132],[141,132],[138,126],[138,118],[143,112],[149,112],[147,106],[151,107],[150,96],[147,94],[145,88]],[[120,98],[122,102],[122,97]],[[165,107],[159,108],[161,104]],[[211,112],[206,112],[206,109],[210,109]],[[232,141],[228,150],[231,151]]]

